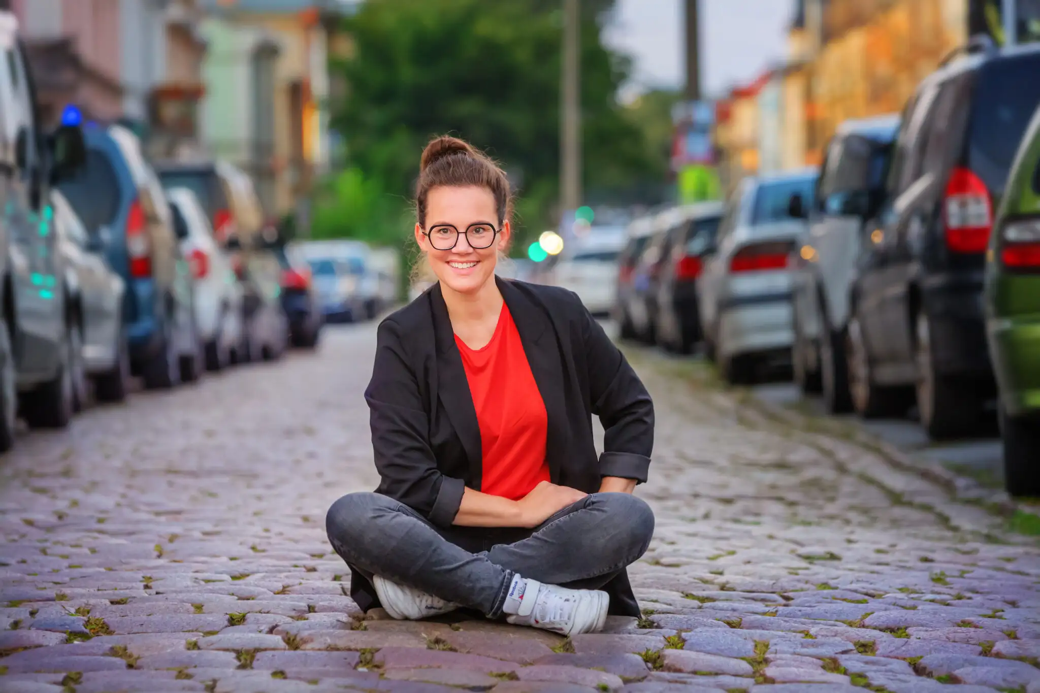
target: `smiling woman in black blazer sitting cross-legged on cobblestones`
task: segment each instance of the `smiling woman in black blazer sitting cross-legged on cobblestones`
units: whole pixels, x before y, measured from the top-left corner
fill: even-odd
[[[433,140],[415,202],[438,282],[379,327],[365,399],[382,483],[326,519],[352,596],[394,618],[467,607],[565,635],[639,616],[625,567],[653,534],[631,495],[650,396],[577,296],[495,276],[511,196],[490,159]]]

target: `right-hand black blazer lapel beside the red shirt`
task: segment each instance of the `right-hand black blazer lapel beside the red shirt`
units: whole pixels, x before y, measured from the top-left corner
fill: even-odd
[[[511,282],[496,277],[498,289],[505,299],[531,375],[545,403],[548,426],[545,439],[545,457],[553,483],[560,483],[560,472],[568,455],[567,409],[564,402],[564,367],[560,344],[548,315]]]

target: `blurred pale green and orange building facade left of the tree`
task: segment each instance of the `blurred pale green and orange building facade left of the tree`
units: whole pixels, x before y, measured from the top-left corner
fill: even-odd
[[[250,172],[268,214],[306,216],[329,168],[330,46],[348,3],[203,0],[210,44],[202,108],[209,151]]]

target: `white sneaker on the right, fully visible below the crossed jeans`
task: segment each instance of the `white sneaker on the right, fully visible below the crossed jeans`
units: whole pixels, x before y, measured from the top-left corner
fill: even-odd
[[[602,630],[609,606],[610,595],[606,592],[567,589],[527,579],[519,613],[505,620],[566,636],[595,633]]]

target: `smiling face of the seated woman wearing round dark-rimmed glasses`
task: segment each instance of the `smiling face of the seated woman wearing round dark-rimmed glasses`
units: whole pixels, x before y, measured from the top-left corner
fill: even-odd
[[[443,286],[472,294],[492,279],[498,252],[505,249],[510,238],[510,222],[502,223],[496,233],[497,219],[495,197],[487,188],[438,187],[430,191],[426,226],[415,224],[415,240]]]

